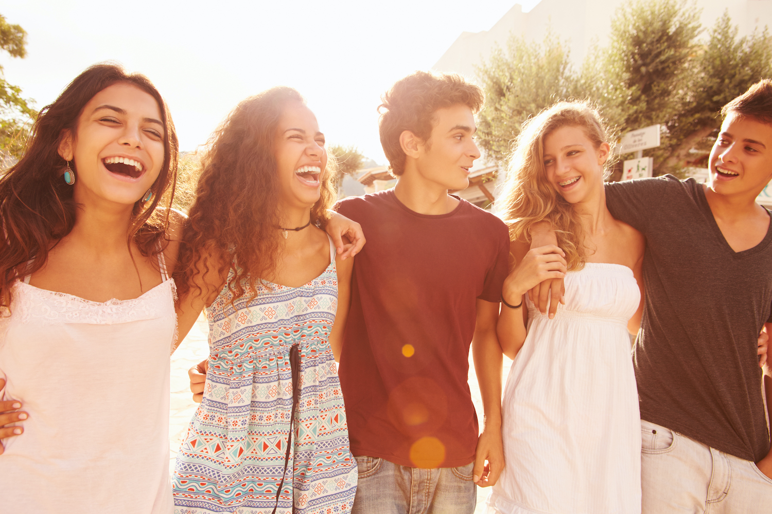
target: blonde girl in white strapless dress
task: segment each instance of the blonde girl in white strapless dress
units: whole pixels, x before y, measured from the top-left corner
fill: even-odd
[[[638,514],[641,432],[628,331],[642,313],[645,240],[611,217],[610,148],[598,113],[560,102],[517,139],[506,191],[514,267],[498,334],[513,358],[503,398],[506,469],[488,499],[500,514]],[[549,221],[558,246],[530,250]],[[527,291],[565,280],[557,313]]]

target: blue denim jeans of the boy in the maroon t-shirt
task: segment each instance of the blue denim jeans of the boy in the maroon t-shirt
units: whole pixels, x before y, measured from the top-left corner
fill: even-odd
[[[357,459],[359,480],[351,514],[472,514],[474,462],[458,468],[422,469],[378,457]]]

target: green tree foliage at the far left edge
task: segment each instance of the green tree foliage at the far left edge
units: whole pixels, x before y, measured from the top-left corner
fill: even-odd
[[[11,25],[0,15],[0,49],[12,57],[23,59],[27,55],[27,32],[19,25]],[[2,157],[16,159],[21,156],[24,143],[29,135],[29,122],[37,116],[29,105],[29,99],[22,98],[22,89],[5,80],[0,66],[0,152]]]

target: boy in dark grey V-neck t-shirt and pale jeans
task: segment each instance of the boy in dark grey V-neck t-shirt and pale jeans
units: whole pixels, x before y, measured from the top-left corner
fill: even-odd
[[[772,180],[772,81],[722,113],[709,186],[674,176],[606,186],[608,210],[647,244],[634,352],[644,513],[772,505],[757,358],[772,304],[772,223],[755,203]],[[554,243],[532,234],[532,246]]]

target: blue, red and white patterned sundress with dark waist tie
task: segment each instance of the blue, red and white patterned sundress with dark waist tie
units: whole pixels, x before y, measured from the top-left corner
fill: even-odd
[[[206,308],[209,369],[178,452],[174,512],[350,512],[357,463],[328,341],[337,309],[335,247],[330,240],[330,265],[308,284],[258,284],[252,301],[243,285],[235,306],[226,284]],[[300,396],[287,452],[293,346]]]

